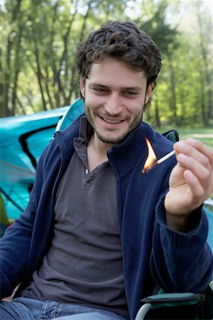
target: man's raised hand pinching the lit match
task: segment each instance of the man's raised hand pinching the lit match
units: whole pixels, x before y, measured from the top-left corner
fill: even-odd
[[[165,196],[166,221],[170,228],[185,232],[190,213],[213,191],[213,151],[195,139],[176,142],[174,149],[178,164]]]

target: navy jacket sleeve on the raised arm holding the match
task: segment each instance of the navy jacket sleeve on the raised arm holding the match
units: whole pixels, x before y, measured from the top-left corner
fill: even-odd
[[[188,233],[168,228],[164,196],[156,208],[151,270],[166,292],[202,292],[212,277],[213,258],[207,244],[208,221],[202,208],[192,213]]]

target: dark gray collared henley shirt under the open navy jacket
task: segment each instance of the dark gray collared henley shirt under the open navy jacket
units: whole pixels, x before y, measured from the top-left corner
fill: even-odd
[[[58,186],[52,245],[23,296],[127,315],[116,182],[109,161],[88,171],[91,134],[82,118],[75,153]]]

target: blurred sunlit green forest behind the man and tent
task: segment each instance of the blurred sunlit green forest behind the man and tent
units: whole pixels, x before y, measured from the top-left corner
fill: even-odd
[[[70,105],[76,51],[107,20],[135,21],[159,46],[163,69],[146,120],[213,124],[212,1],[0,0],[1,117]]]

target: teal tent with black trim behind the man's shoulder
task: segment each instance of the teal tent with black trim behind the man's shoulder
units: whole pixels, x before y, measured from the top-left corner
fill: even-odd
[[[26,208],[38,159],[53,133],[83,111],[78,99],[71,106],[0,119],[0,192],[9,219]]]

